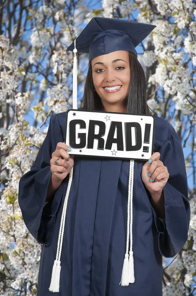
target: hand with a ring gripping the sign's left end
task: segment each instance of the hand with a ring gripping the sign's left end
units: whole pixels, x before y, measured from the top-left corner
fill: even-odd
[[[68,145],[63,142],[57,143],[57,148],[52,153],[52,158],[50,159],[50,169],[53,177],[55,180],[60,182],[62,182],[70,173],[74,164],[73,156],[68,154],[68,148]],[[57,158],[60,158],[58,165],[55,164],[55,160],[57,160]]]

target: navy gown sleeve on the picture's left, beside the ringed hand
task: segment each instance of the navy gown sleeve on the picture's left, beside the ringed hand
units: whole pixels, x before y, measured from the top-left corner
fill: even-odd
[[[52,175],[50,159],[58,142],[64,142],[64,139],[58,114],[54,114],[50,118],[47,135],[30,171],[24,174],[19,181],[18,201],[24,222],[33,237],[47,246],[52,240],[55,215],[61,202],[61,193],[66,179],[57,189],[54,198],[45,205]]]

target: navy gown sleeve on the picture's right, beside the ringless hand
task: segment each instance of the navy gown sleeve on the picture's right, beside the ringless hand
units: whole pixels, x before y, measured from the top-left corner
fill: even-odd
[[[159,152],[160,160],[169,173],[169,179],[163,187],[165,219],[160,219],[150,205],[159,235],[159,251],[163,257],[171,258],[185,245],[191,218],[185,160],[178,135],[170,135]]]

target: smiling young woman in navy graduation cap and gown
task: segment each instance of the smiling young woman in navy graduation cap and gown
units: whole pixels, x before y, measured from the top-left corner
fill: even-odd
[[[79,51],[89,52],[90,59],[83,111],[150,114],[145,74],[137,60],[134,38],[136,34],[141,41],[152,28],[147,31],[145,26],[150,25],[141,24],[138,29],[138,24],[94,18],[76,39],[76,45],[81,45]],[[134,38],[130,37],[132,33]],[[89,44],[88,49],[84,44]],[[65,119],[66,112],[51,117],[35,162],[19,183],[24,222],[43,244],[37,295],[161,296],[162,256],[179,253],[187,241],[190,222],[186,169],[178,135],[169,123],[155,116],[154,153],[147,162],[133,162],[132,249],[128,255],[130,161],[73,158],[64,143]],[[67,191],[61,245],[58,238]],[[57,262],[53,265],[57,252],[61,254],[61,268]],[[134,266],[131,261],[133,269],[130,275],[128,268],[126,282],[121,279],[125,262],[130,263],[128,257],[134,259]],[[54,277],[59,276],[57,289],[50,283],[52,270]]]

